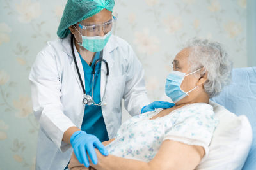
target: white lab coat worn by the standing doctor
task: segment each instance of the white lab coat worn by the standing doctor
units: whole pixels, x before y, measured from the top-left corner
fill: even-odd
[[[71,36],[50,41],[38,53],[29,74],[33,111],[40,124],[36,151],[36,170],[63,170],[72,153],[72,146],[62,141],[63,133],[72,126],[81,127],[84,115],[83,90],[70,46]],[[83,66],[74,46],[77,64],[84,83]],[[144,71],[131,46],[111,36],[103,50],[109,76],[102,115],[109,139],[122,121],[121,101],[133,116],[149,103]],[[106,66],[102,64],[100,95],[106,85]]]

